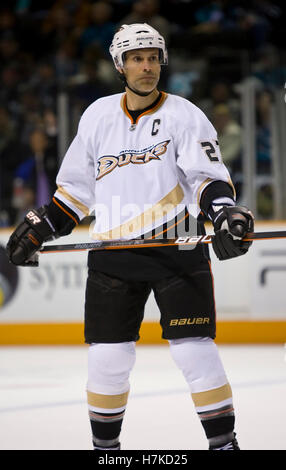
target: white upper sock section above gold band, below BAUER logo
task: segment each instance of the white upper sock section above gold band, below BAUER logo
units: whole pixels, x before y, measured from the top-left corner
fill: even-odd
[[[169,344],[171,355],[192,394],[228,383],[217,346],[211,338],[183,338],[169,340]]]

